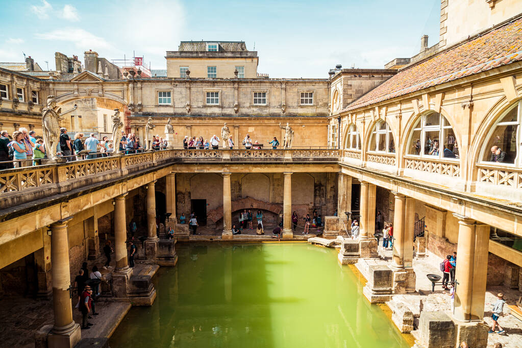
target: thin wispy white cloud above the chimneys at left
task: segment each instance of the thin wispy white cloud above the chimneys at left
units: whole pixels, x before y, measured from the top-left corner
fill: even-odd
[[[111,46],[105,39],[78,28],[63,28],[47,33],[37,33],[36,37],[41,40],[73,42],[77,48],[85,51],[108,49]]]

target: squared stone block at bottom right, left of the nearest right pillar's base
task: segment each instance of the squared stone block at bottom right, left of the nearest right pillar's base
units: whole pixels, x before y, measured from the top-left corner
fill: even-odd
[[[442,311],[423,311],[419,319],[419,340],[424,348],[454,348],[453,320]]]

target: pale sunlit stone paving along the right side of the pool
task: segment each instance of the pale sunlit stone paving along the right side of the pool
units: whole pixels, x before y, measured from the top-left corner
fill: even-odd
[[[381,258],[358,262],[357,268],[359,271],[361,271],[364,277],[367,277],[367,265],[387,265],[391,262],[393,255],[392,250],[384,250],[382,246],[379,246],[378,251]],[[438,285],[435,287],[435,292],[432,293],[431,281],[426,277],[426,274],[430,273],[441,274],[441,271],[438,269],[438,264],[440,262],[441,260],[439,260],[437,256],[429,253],[428,250],[426,250],[426,256],[424,258],[414,258],[413,269],[417,277],[416,293],[393,296],[394,302],[403,303],[407,305],[408,308],[412,311],[413,316],[416,317],[414,320],[416,325],[418,323],[418,317],[421,310],[442,310],[447,311],[448,314],[451,314],[451,305],[448,292],[443,291],[440,285]],[[503,316],[501,316],[499,319],[499,323],[506,330],[506,333],[490,334],[488,338],[488,348],[493,348],[494,344],[497,342],[502,343],[503,347],[507,348],[522,347],[522,321],[512,316],[510,314],[511,310],[509,310],[507,307],[507,305],[515,305],[518,297],[522,295],[522,293],[520,293],[518,290],[509,289],[507,286],[488,287],[485,293],[484,321],[487,322],[488,325],[492,325],[492,304],[496,301],[496,294],[499,292],[503,293],[504,298],[506,299]]]

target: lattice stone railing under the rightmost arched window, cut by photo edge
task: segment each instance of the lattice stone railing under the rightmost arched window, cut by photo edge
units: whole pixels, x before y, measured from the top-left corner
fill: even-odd
[[[497,163],[477,164],[477,181],[504,187],[522,188],[522,169]]]

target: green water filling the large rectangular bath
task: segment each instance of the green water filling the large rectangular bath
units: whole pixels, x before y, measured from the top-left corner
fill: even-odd
[[[409,347],[337,250],[306,243],[176,244],[151,307],[114,347]]]

